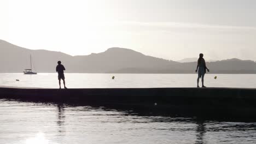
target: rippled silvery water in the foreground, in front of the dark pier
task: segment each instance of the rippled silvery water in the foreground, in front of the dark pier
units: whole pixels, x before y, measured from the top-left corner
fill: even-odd
[[[181,118],[126,106],[0,100],[0,143],[254,143],[256,121]]]

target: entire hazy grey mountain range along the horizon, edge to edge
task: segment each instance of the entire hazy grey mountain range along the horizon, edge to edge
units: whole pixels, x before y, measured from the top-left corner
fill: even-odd
[[[62,52],[30,50],[0,40],[0,73],[22,73],[30,68],[30,54],[38,73],[55,73],[62,61],[66,73],[195,73],[196,62],[179,63],[119,47],[87,56],[70,56]],[[211,73],[256,73],[256,63],[227,59],[207,63]]]

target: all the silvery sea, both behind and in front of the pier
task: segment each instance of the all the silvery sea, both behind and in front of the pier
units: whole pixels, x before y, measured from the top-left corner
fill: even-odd
[[[66,74],[66,81],[68,88],[195,87],[196,77],[196,74]],[[256,75],[207,74],[205,83],[208,87],[254,88]],[[58,82],[56,74],[0,74],[0,86],[58,88]],[[0,99],[1,144],[254,142],[256,121],[175,117],[129,106]]]

